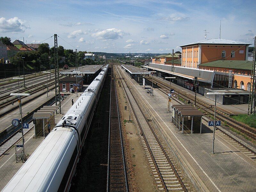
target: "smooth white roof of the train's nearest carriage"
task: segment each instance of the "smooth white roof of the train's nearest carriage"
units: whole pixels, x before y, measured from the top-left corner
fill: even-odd
[[[71,128],[55,128],[13,176],[3,191],[45,191],[54,174],[57,171],[60,174],[58,168],[60,163],[63,165],[61,160],[66,152],[65,148],[68,148],[75,134],[76,132]],[[66,162],[67,165],[68,162]],[[62,177],[59,178],[61,182]]]

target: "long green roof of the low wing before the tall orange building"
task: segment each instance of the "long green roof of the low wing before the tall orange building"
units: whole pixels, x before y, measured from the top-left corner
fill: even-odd
[[[252,61],[217,60],[199,66],[252,70]]]

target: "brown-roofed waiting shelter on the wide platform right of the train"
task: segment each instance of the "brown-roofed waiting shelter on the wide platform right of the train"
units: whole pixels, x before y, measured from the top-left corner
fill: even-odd
[[[204,114],[191,105],[172,105],[172,122],[182,133],[202,133]]]

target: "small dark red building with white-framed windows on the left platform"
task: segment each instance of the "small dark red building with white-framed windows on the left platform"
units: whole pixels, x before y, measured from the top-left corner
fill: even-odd
[[[77,79],[76,77],[68,77],[60,80],[60,92],[72,92],[72,90],[76,92],[76,89],[78,89],[79,92],[82,91],[83,86],[83,76],[77,76]]]

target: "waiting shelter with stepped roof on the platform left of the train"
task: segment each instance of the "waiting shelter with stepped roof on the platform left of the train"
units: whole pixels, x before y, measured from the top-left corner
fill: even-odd
[[[58,106],[44,106],[33,114],[35,137],[46,137],[52,128],[55,127],[55,114],[57,110]]]

